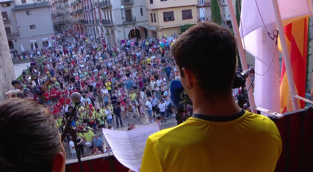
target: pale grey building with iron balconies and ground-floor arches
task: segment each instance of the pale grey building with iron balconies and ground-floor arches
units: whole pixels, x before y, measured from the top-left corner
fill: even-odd
[[[101,37],[106,43],[115,44],[121,39],[149,35],[145,0],[82,0],[82,3],[88,37]]]

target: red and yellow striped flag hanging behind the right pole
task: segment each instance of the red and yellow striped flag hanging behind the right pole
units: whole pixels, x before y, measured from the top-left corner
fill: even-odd
[[[308,46],[308,21],[309,18],[302,18],[284,27],[287,46],[290,54],[291,69],[294,77],[296,93],[305,97],[305,75],[306,75],[306,56]],[[278,43],[281,51],[280,41]],[[298,107],[303,108],[304,102],[298,100]],[[283,63],[280,74],[280,112],[292,111],[290,91],[286,67]]]

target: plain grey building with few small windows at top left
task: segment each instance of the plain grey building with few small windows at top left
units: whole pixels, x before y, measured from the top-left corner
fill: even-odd
[[[41,49],[53,41],[53,23],[45,0],[0,0],[10,51]]]

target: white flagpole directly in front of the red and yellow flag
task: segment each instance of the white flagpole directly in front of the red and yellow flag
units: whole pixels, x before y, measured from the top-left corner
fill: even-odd
[[[280,35],[281,48],[282,48],[283,55],[284,55],[284,62],[285,62],[289,91],[290,91],[290,99],[291,99],[293,110],[297,110],[298,109],[298,100],[295,98],[297,93],[295,90],[295,82],[294,82],[294,77],[293,77],[293,73],[292,73],[292,69],[291,69],[290,56],[289,56],[289,52],[288,52],[288,48],[287,48],[285,31],[284,31],[284,27],[283,27],[283,21],[281,20],[277,0],[272,0],[272,4],[273,4],[273,8],[274,8],[278,32]]]

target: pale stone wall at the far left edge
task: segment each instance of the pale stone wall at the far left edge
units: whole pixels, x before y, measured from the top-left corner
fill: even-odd
[[[13,62],[8,45],[7,34],[5,33],[2,14],[0,11],[0,101],[6,99],[5,92],[14,87],[11,81],[15,79]]]

